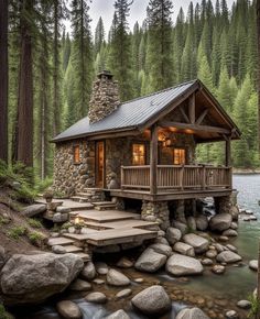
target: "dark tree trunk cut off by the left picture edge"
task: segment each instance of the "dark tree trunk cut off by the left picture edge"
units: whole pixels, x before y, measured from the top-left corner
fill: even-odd
[[[8,1],[0,0],[0,160],[8,162]]]

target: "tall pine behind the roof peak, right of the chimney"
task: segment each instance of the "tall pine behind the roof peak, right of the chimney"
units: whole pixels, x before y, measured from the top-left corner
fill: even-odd
[[[151,91],[170,87],[173,82],[172,9],[170,0],[150,0],[148,6],[149,87]]]

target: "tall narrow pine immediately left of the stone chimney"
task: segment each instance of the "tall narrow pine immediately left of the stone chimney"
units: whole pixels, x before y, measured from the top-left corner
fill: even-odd
[[[76,119],[87,114],[94,77],[93,45],[89,7],[86,0],[72,1],[71,21],[73,30],[72,68],[75,73],[74,97]]]

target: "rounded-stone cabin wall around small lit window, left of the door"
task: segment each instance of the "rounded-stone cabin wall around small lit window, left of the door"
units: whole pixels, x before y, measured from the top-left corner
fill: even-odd
[[[74,146],[79,145],[80,163],[74,163]],[[73,195],[95,186],[95,143],[84,140],[56,144],[54,155],[55,191]]]

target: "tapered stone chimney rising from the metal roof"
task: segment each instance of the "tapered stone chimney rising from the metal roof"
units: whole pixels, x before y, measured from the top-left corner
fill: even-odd
[[[93,85],[88,110],[89,122],[95,123],[102,120],[117,110],[119,105],[118,82],[112,79],[109,70],[102,70],[97,75]]]

